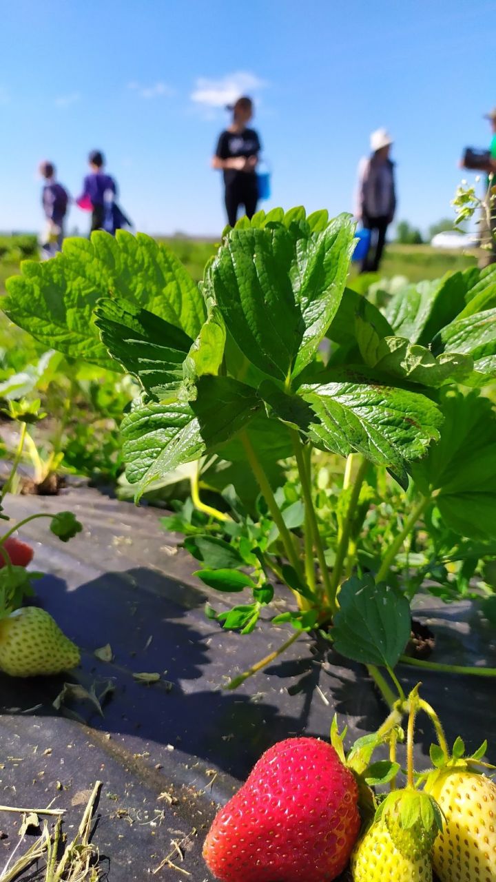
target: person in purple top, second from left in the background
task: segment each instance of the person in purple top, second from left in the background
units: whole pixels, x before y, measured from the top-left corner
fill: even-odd
[[[91,172],[86,175],[83,191],[76,202],[79,208],[91,211],[90,234],[95,229],[103,229],[115,235],[117,229],[131,227],[132,222],[116,204],[116,182],[103,170],[105,159],[101,150],[92,150],[88,162]]]

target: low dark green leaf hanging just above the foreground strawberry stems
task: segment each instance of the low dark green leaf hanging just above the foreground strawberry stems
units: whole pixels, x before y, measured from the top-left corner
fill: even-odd
[[[406,597],[372,576],[344,582],[334,617],[336,652],[354,662],[395,668],[410,639],[410,604]]]

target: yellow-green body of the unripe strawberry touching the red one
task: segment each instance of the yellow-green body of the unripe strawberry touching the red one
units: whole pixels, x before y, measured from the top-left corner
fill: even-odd
[[[396,848],[383,818],[374,820],[351,856],[354,882],[432,882],[428,855],[405,857]]]

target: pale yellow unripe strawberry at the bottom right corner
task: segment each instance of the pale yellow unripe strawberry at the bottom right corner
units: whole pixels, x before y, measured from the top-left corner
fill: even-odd
[[[438,768],[425,782],[446,818],[432,848],[440,882],[496,880],[496,784],[476,768],[486,746],[463,758],[458,738],[453,757],[438,759]]]

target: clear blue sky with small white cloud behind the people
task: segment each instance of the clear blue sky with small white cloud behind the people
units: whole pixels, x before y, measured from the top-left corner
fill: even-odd
[[[450,213],[462,147],[489,141],[488,0],[4,0],[1,21],[3,230],[40,227],[41,159],[78,195],[100,147],[137,228],[217,235],[209,160],[237,92],[257,101],[267,206],[351,210],[357,162],[386,126],[398,217],[425,228]],[[73,208],[75,226],[87,215]]]

